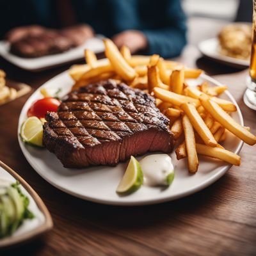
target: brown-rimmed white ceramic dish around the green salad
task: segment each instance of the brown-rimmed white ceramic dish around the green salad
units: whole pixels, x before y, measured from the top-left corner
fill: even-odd
[[[22,193],[29,198],[29,210],[33,212],[35,216],[31,220],[25,220],[22,225],[12,234],[12,236],[0,239],[0,248],[24,243],[25,241],[33,239],[34,237],[43,234],[52,228],[51,216],[40,197],[25,180],[23,180],[17,173],[15,173],[11,168],[6,166],[6,164],[2,163],[1,161],[0,178],[10,180],[10,182],[19,180]]]

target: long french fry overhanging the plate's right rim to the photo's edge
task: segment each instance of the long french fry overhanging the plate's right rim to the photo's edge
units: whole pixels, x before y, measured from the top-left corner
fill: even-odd
[[[159,97],[159,99],[161,98]],[[228,131],[232,132],[248,145],[254,145],[256,143],[256,136],[247,131],[243,126],[239,125],[218,104],[216,104],[216,102],[204,97],[204,95],[200,97],[200,102],[212,117]]]

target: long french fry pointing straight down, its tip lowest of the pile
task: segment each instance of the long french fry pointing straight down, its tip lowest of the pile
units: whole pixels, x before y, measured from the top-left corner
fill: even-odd
[[[187,115],[182,117],[182,125],[185,135],[186,150],[188,155],[188,170],[196,173],[198,170],[198,157],[196,154],[196,142],[194,129]]]

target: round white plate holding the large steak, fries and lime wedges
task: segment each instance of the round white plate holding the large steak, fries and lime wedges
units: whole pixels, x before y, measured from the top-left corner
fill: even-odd
[[[199,79],[188,80],[188,83],[197,85],[202,83],[202,81],[209,81],[211,84],[220,85],[220,83],[204,74]],[[72,84],[73,81],[66,71],[52,78],[40,88],[51,88],[51,90],[56,91],[61,87],[63,88],[62,93],[65,95],[65,93],[70,91]],[[20,125],[26,119],[28,108],[36,99],[42,97],[40,95],[40,88],[31,95],[20,113],[18,137]],[[231,100],[237,106],[236,101],[229,92],[224,93],[223,99]],[[243,125],[243,117],[239,106],[237,106],[237,112],[232,116]],[[195,175],[190,175],[186,159],[182,159],[179,162],[176,161],[175,153],[173,152],[171,156],[175,166],[175,179],[172,186],[166,189],[143,186],[132,195],[118,196],[115,189],[125,171],[125,163],[120,163],[116,167],[96,166],[82,170],[67,169],[63,168],[57,157],[48,150],[24,144],[20,137],[19,144],[24,156],[36,172],[56,188],[85,200],[111,205],[156,204],[181,198],[209,186],[214,181],[220,179],[231,167],[231,164],[200,156],[198,172]],[[228,150],[238,153],[242,145],[242,141],[232,135],[228,135],[224,146]]]

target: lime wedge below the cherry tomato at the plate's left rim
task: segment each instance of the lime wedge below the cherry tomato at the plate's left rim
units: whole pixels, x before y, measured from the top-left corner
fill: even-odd
[[[43,147],[43,125],[36,116],[29,117],[20,129],[22,140],[38,147]]]

